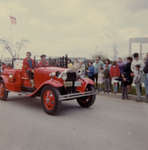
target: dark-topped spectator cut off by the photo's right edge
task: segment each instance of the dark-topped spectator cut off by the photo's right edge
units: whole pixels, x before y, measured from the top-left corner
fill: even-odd
[[[148,102],[148,53],[145,58],[145,66],[143,72],[145,74],[144,84],[145,84],[146,101]]]

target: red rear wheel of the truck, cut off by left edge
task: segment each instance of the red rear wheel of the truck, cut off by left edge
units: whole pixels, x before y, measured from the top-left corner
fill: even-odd
[[[0,80],[0,100],[7,100],[8,91],[5,88],[5,84],[2,80]]]

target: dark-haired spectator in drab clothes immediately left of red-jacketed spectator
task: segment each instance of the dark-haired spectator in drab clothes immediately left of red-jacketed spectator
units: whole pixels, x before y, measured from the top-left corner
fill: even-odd
[[[104,69],[104,92],[108,93],[111,92],[111,84],[110,84],[110,67],[109,64],[105,64],[105,69]]]

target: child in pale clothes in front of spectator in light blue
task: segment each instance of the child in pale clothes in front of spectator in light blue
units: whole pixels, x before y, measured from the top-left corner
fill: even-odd
[[[98,73],[98,91],[102,91],[103,83],[104,83],[104,69],[100,67],[100,71]]]

